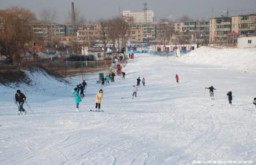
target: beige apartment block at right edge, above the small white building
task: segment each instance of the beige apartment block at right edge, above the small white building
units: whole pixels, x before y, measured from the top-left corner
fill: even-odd
[[[256,35],[256,14],[233,16],[231,30],[239,35]]]

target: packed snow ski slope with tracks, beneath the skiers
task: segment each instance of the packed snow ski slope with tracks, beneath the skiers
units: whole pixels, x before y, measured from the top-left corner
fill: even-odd
[[[197,55],[207,65],[187,63]],[[71,93],[81,75],[65,84],[43,72],[27,72],[35,86],[0,86],[0,164],[256,164],[256,74],[223,67],[230,56],[209,65],[200,53],[180,58],[135,54],[123,68],[126,79],[116,76],[115,83],[101,87],[95,83],[98,73],[84,75],[88,86],[80,112],[74,111]],[[140,85],[131,99],[138,76],[145,78],[145,87]],[[205,90],[211,85],[215,100]],[[17,89],[33,109],[24,104],[26,116],[17,116]],[[99,89],[104,112],[90,112]]]

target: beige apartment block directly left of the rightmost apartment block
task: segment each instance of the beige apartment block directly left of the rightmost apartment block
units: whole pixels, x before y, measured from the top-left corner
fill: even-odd
[[[227,43],[227,34],[229,32],[231,32],[230,17],[209,20],[209,43]]]

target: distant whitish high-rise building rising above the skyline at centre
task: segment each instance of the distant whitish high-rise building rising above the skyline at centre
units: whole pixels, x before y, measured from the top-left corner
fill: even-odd
[[[124,17],[132,17],[134,23],[152,23],[154,12],[147,10],[147,12],[131,12],[130,10],[123,10]]]

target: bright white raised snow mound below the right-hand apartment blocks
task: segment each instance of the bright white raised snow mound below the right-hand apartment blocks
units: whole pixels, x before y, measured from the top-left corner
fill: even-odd
[[[244,72],[256,71],[256,49],[200,47],[180,57],[184,63],[218,65],[239,69]]]

